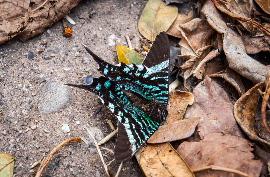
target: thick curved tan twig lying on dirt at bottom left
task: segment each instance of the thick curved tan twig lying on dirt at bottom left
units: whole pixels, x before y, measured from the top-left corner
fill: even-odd
[[[43,159],[41,165],[38,168],[37,174],[35,177],[40,177],[42,171],[46,167],[46,165],[49,163],[49,161],[52,159],[52,156],[59,150],[61,149],[64,145],[71,143],[71,142],[82,142],[82,139],[76,137],[76,138],[70,138],[66,139],[65,141],[61,142],[59,145],[57,145],[55,148],[52,149],[52,151],[49,153],[49,155],[46,157],[46,159]]]

